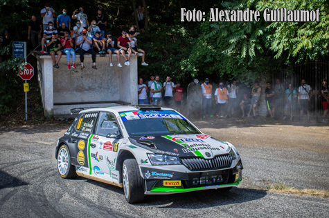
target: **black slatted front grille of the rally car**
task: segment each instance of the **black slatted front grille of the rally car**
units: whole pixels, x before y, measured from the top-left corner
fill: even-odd
[[[213,159],[204,159],[202,157],[181,158],[181,164],[191,171],[216,170],[229,168],[232,164],[232,157],[231,155],[222,155]]]

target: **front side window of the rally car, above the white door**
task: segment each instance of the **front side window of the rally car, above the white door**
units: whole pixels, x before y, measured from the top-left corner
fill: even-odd
[[[111,112],[100,112],[96,135],[106,137],[108,134],[118,134],[118,123]]]

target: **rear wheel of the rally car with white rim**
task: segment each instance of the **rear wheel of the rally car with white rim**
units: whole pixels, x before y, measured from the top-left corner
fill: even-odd
[[[60,177],[72,179],[77,176],[75,166],[71,165],[71,154],[69,148],[63,144],[57,152],[57,170]]]

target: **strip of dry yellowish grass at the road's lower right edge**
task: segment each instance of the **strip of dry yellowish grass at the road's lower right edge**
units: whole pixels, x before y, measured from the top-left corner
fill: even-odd
[[[299,189],[286,184],[272,184],[267,188],[269,192],[279,192],[285,194],[294,194],[294,195],[310,195],[314,197],[324,197],[329,198],[329,191],[327,190],[315,190],[315,189]]]

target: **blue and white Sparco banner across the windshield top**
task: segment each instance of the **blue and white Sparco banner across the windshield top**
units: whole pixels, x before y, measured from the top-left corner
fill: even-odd
[[[149,118],[172,118],[185,119],[173,110],[135,110],[128,112],[121,112],[120,117],[122,121],[129,121],[132,119],[149,119]]]

